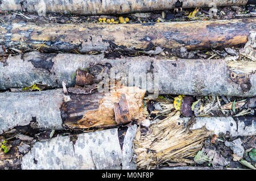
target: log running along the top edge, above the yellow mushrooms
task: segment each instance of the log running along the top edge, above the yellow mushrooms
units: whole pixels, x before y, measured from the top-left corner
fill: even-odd
[[[2,0],[2,11],[27,11],[45,14],[48,12],[60,12],[65,14],[99,15],[99,14],[124,14],[130,12],[168,10],[175,8],[176,0]],[[215,6],[241,6],[246,5],[248,0],[183,0],[183,8],[213,7]]]

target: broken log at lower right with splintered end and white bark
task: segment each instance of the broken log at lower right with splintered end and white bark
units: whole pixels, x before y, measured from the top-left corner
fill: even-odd
[[[134,153],[137,166],[152,169],[166,162],[195,163],[195,157],[208,136],[253,136],[256,117],[180,117],[172,112],[166,119],[151,124],[146,131],[137,129]]]

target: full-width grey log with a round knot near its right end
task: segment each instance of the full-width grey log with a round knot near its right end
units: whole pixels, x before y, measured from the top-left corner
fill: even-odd
[[[34,83],[62,87],[62,81],[67,87],[73,87],[79,68],[88,69],[97,81],[102,82],[102,77],[113,78],[126,82],[126,86],[129,83],[155,94],[159,91],[159,94],[176,95],[256,96],[256,62],[149,56],[108,59],[104,54],[38,52],[0,61],[0,90],[24,88]],[[88,92],[88,88],[84,88],[80,92]]]

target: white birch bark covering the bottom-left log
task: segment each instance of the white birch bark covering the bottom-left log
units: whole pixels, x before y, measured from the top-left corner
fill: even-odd
[[[127,129],[128,137],[135,136],[134,128]],[[132,141],[129,138],[126,142],[128,149],[131,149]],[[36,142],[22,158],[22,169],[122,169],[121,163],[125,169],[129,169],[126,162],[131,158],[124,157],[126,155],[122,155],[117,128],[105,129],[78,134],[75,144],[69,136]]]

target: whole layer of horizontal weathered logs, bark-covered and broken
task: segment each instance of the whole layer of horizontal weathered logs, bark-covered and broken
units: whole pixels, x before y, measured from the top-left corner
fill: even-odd
[[[2,0],[0,10],[125,14],[174,9],[175,2]],[[187,0],[181,7],[211,7],[210,2]],[[239,6],[251,1],[214,3]],[[0,169],[150,169],[168,161],[194,163],[188,157],[195,157],[213,134],[254,136],[255,116],[183,117],[172,107],[165,119],[149,121],[144,97],[255,97],[254,59],[159,56],[163,50],[246,43],[254,49],[255,23],[255,18],[151,24],[1,23],[2,48],[26,53],[0,59],[0,143],[14,140],[9,154],[0,154]],[[71,53],[74,50],[77,54]],[[136,56],[138,52],[144,55]]]

